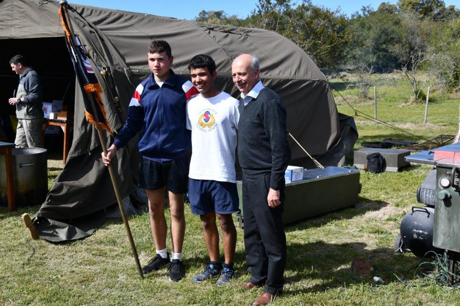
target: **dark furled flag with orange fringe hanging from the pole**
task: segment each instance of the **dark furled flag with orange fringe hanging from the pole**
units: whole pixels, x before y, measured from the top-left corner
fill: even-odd
[[[80,85],[83,87],[83,92],[85,93],[85,95],[83,95],[83,102],[85,104],[86,120],[94,125],[99,125],[101,128],[112,134],[104,104],[101,99],[101,85],[99,85],[99,82],[96,79],[88,54],[83,49],[78,36],[74,35],[74,39],[71,36],[69,25],[67,24],[64,14],[64,7],[61,6],[59,8],[59,16],[61,17],[62,28],[64,29],[67,38],[67,49],[69,50],[72,63],[74,64],[75,74],[80,82]],[[91,105],[92,101],[94,102],[94,108]],[[95,109],[96,114],[93,113],[93,109]]]

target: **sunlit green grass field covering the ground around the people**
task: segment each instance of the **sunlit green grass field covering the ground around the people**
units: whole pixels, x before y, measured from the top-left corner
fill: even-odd
[[[434,92],[428,124],[423,125],[424,103],[410,102],[410,88],[398,75],[386,77],[388,82],[377,89],[378,119],[428,138],[457,133],[458,95]],[[340,80],[332,83],[345,87]],[[341,93],[357,110],[373,116],[372,99],[357,99],[356,90]],[[334,96],[340,112],[354,114],[336,92]],[[356,148],[362,141],[384,138],[421,141],[355,119],[359,132]],[[60,156],[50,159],[50,180],[59,173],[59,165]],[[420,258],[411,253],[392,254],[401,219],[413,205],[421,205],[416,203],[416,189],[429,170],[428,166],[414,165],[397,173],[361,171],[363,187],[355,207],[287,226],[285,293],[274,305],[459,305],[457,290],[414,277]],[[57,244],[28,242],[19,217],[24,212],[34,215],[37,210],[38,206],[15,212],[0,208],[0,305],[250,305],[262,293],[262,289],[242,292],[219,288],[215,280],[192,282],[208,256],[201,223],[188,205],[186,277],[179,283],[169,282],[166,269],[139,279],[123,223],[118,219],[108,220],[86,239]],[[132,217],[129,222],[141,263],[145,264],[154,255],[148,216]],[[238,229],[236,284],[249,277],[242,237]],[[353,258],[370,258],[374,267],[371,275],[353,276]],[[404,278],[405,284],[396,275]],[[373,276],[380,276],[385,284],[376,285]]]

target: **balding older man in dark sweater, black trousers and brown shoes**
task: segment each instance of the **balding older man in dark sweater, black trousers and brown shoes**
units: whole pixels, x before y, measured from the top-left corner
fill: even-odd
[[[286,266],[284,171],[291,159],[286,109],[259,81],[256,56],[242,54],[232,64],[239,101],[238,158],[243,170],[244,246],[251,278],[242,287],[265,285],[253,305],[269,304],[283,290]]]

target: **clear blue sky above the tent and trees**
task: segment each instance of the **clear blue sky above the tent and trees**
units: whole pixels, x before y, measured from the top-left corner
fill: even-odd
[[[70,4],[83,4],[97,7],[110,8],[115,10],[147,13],[165,17],[192,20],[204,11],[223,10],[227,15],[237,15],[245,18],[256,8],[258,0],[68,0]],[[300,2],[298,0],[297,2]],[[332,10],[340,7],[341,12],[349,16],[361,9],[363,6],[371,5],[376,10],[382,0],[312,0],[314,5],[325,6]],[[389,0],[396,4],[397,0]],[[446,6],[455,5],[460,8],[460,0],[444,0]]]

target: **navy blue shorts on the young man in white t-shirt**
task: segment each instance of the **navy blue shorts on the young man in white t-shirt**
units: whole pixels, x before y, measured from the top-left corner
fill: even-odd
[[[188,198],[194,215],[231,214],[239,209],[236,183],[189,179]]]

